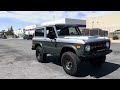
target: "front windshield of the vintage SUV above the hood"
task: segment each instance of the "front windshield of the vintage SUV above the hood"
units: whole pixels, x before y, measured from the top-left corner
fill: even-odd
[[[77,26],[56,26],[58,36],[81,35]]]

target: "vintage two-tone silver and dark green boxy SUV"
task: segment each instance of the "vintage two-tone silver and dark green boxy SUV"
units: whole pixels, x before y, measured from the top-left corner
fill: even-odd
[[[107,37],[82,36],[79,26],[73,24],[36,27],[32,50],[36,50],[39,62],[46,62],[47,54],[59,56],[64,71],[69,75],[77,75],[82,62],[101,66],[106,55],[112,52]]]

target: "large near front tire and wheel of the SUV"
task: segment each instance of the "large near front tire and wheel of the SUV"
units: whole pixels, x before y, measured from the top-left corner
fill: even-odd
[[[80,59],[73,52],[65,52],[61,57],[61,65],[67,74],[76,76],[79,71]]]

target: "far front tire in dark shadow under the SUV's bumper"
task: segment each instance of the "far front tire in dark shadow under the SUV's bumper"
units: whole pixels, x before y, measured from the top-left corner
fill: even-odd
[[[92,64],[92,66],[100,67],[105,63],[105,60],[106,56],[101,56],[90,60],[90,63]]]

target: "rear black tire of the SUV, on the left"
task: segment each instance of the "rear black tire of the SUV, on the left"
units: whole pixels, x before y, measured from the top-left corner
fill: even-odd
[[[36,58],[39,62],[44,63],[46,62],[47,55],[43,53],[43,50],[40,46],[36,48]]]

